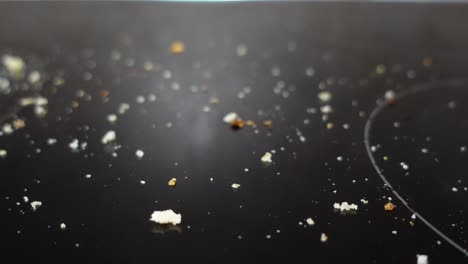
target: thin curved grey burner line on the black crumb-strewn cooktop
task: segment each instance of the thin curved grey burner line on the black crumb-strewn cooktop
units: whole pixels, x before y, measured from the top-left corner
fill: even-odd
[[[468,82],[466,80],[452,80],[452,81],[434,81],[431,83],[425,83],[425,84],[420,84],[413,86],[407,91],[398,93],[395,95],[395,99],[398,102],[398,100],[401,100],[402,98],[415,95],[420,92],[428,91],[435,89],[436,87],[442,86],[442,85],[450,85],[452,87],[460,87],[462,85],[467,85]],[[468,250],[466,248],[463,248],[461,245],[459,245],[457,242],[452,240],[450,237],[445,235],[442,231],[440,231],[437,227],[435,227],[433,224],[431,224],[428,220],[426,220],[421,214],[419,214],[415,209],[413,209],[406,201],[405,199],[393,188],[392,184],[387,180],[387,177],[384,175],[382,170],[380,169],[379,165],[377,164],[377,161],[374,157],[374,154],[371,150],[371,144],[370,144],[370,133],[372,130],[372,124],[374,123],[374,120],[378,117],[378,115],[385,110],[390,103],[387,100],[384,100],[382,103],[378,104],[371,112],[369,115],[369,118],[366,121],[366,125],[364,127],[364,145],[366,147],[367,151],[367,156],[369,157],[372,166],[374,167],[375,171],[379,175],[379,177],[382,179],[382,181],[385,184],[385,187],[388,188],[395,197],[408,209],[410,210],[417,218],[419,218],[427,227],[429,227],[432,231],[434,231],[437,235],[439,235],[441,238],[443,238],[447,243],[452,245],[454,248],[459,250],[461,253],[463,253],[466,257],[468,257]]]

